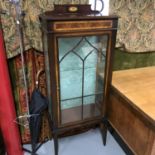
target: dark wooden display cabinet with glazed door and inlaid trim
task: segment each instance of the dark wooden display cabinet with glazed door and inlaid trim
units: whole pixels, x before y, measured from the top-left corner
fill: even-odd
[[[116,16],[90,5],[55,5],[40,15],[55,153],[60,135],[100,125],[112,74]]]

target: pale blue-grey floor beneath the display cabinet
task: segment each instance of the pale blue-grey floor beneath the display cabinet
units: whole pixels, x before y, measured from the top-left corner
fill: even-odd
[[[25,145],[31,148],[30,145]],[[37,152],[38,155],[54,155],[53,141],[44,144]],[[25,153],[24,155],[29,155]],[[125,155],[123,150],[110,133],[107,145],[103,146],[99,129],[59,139],[59,155]]]

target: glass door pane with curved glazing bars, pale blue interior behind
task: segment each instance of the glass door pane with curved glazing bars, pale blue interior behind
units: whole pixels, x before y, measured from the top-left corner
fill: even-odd
[[[58,38],[61,124],[100,116],[108,35]]]

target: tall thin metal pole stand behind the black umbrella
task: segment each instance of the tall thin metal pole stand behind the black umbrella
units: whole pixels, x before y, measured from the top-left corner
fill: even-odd
[[[27,107],[27,113],[25,115],[22,116],[18,116],[17,119],[15,120],[15,122],[21,126],[28,126],[29,122],[31,120],[32,117],[42,117],[42,113],[41,114],[32,114],[30,113],[30,107],[29,107],[29,95],[28,95],[28,82],[27,82],[27,74],[26,74],[26,69],[25,69],[25,59],[24,59],[24,37],[23,37],[23,17],[25,16],[25,13],[22,11],[21,9],[21,0],[8,0],[9,4],[10,4],[10,9],[11,9],[11,5],[14,5],[15,7],[15,12],[16,12],[16,16],[15,16],[15,22],[16,22],[16,27],[17,27],[17,34],[19,36],[19,47],[20,47],[20,55],[21,55],[21,64],[22,64],[22,74],[23,74],[23,84],[24,84],[24,89],[25,89],[25,102],[26,102],[26,107]],[[10,10],[9,10],[10,11]],[[9,11],[2,11],[0,10],[0,14],[9,14]],[[40,75],[41,72],[39,72],[37,74],[37,80],[38,77]],[[38,81],[36,81],[38,82]],[[39,83],[36,84],[37,87],[39,85]],[[45,109],[46,110],[46,109]],[[40,118],[41,119],[41,118]],[[50,120],[49,124],[50,124]],[[31,135],[31,140],[32,140],[32,134]],[[45,139],[43,142],[39,143],[38,145],[33,145],[32,141],[31,141],[31,147],[32,150],[28,150],[26,148],[23,148],[24,151],[30,153],[31,155],[37,155],[37,151],[38,149],[48,141],[48,139]]]

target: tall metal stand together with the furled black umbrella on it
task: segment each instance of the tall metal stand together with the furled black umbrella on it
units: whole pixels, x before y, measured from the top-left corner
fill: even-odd
[[[19,124],[20,126],[29,127],[32,151],[27,150],[25,148],[23,148],[23,150],[31,153],[32,155],[37,155],[36,151],[41,147],[43,143],[47,141],[45,140],[44,142],[37,145],[38,139],[40,136],[40,130],[41,130],[42,112],[48,108],[47,98],[43,96],[39,91],[39,76],[44,71],[40,70],[37,73],[36,88],[32,93],[31,100],[29,101],[28,83],[27,83],[25,59],[24,59],[24,38],[23,38],[23,23],[22,23],[25,13],[23,13],[21,10],[20,0],[9,0],[9,2],[10,2],[10,6],[11,5],[15,6],[15,11],[16,11],[15,22],[17,26],[17,32],[18,32],[19,43],[20,43],[19,45],[20,45],[20,55],[21,55],[21,66],[22,66],[22,74],[23,74],[23,84],[25,89],[25,102],[26,102],[26,108],[27,108],[27,113],[24,115],[18,116],[15,120],[15,123]]]

